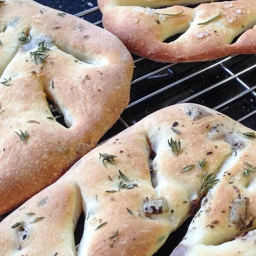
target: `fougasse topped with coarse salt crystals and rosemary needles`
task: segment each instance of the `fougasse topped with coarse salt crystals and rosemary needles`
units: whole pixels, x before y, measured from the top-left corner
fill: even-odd
[[[187,62],[256,53],[255,0],[172,6],[199,2],[207,1],[98,0],[105,29],[146,58]],[[163,6],[172,7],[151,9]],[[171,36],[177,39],[165,42]]]

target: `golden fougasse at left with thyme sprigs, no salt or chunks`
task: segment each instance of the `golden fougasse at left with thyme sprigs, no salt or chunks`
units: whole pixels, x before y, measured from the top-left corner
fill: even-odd
[[[31,0],[0,0],[0,214],[96,145],[128,104],[132,72],[110,32]]]

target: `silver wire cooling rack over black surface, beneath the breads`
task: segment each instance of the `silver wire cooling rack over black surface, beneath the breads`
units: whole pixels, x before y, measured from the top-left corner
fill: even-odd
[[[61,1],[37,0],[60,9]],[[63,0],[62,11],[72,12],[73,3]],[[71,1],[70,1],[71,2]],[[102,14],[96,0],[84,2],[79,8],[81,17],[102,27]],[[91,6],[91,7],[89,7]],[[81,10],[79,10],[81,11]],[[234,55],[207,62],[159,63],[133,55],[134,76],[131,82],[131,102],[120,119],[105,134],[99,144],[161,108],[183,102],[193,102],[236,119],[256,130],[256,55]],[[60,122],[63,122],[60,121]],[[8,215],[8,214],[6,214]],[[0,221],[6,217],[0,216]],[[169,256],[186,233],[189,218],[154,256]],[[84,217],[79,218],[75,240],[79,244],[83,233]],[[178,238],[178,239],[177,239]]]

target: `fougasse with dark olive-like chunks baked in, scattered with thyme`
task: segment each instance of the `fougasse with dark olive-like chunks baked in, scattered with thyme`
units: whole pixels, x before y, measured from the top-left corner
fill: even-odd
[[[173,255],[254,256],[255,150],[255,132],[221,113],[195,104],[164,108],[6,217],[0,255],[151,256],[196,213]]]

